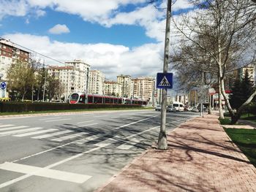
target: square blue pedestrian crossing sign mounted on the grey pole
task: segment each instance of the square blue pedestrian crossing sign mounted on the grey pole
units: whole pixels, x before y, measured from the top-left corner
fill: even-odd
[[[157,73],[157,88],[173,88],[173,73]]]

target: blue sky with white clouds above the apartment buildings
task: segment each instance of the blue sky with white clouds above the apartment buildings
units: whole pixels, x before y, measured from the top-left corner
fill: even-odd
[[[83,60],[108,80],[156,77],[163,67],[166,7],[165,0],[0,0],[0,37],[57,61]],[[188,0],[172,7],[174,17],[191,9]]]

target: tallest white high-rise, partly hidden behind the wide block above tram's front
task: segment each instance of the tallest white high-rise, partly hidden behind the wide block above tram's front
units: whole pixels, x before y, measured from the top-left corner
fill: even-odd
[[[89,73],[91,70],[91,66],[79,59],[75,59],[74,61],[67,61],[67,62],[65,62],[65,64],[66,64],[66,66],[74,66],[76,69],[79,69],[80,72],[82,72],[84,74],[83,80],[80,81],[80,83],[83,83],[83,90],[80,90],[80,91],[88,92],[89,75],[90,75]]]

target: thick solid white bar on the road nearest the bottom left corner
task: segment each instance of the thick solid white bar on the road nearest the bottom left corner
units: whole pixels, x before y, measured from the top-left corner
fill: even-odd
[[[23,164],[14,164],[5,162],[0,164],[0,169],[4,169],[11,172],[20,172],[29,175],[36,175],[40,177],[48,177],[56,180],[64,180],[73,183],[84,183],[89,180],[91,176],[85,174],[75,174],[71,172],[62,172],[59,170],[47,169],[38,166],[29,166]]]

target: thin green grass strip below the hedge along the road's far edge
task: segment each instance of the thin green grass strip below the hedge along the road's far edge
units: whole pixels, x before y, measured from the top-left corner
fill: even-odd
[[[102,108],[102,109],[83,109],[83,110],[49,110],[49,111],[31,111],[31,112],[0,112],[0,115],[26,115],[54,112],[89,112],[89,111],[114,111],[114,110],[153,110],[153,107],[127,107],[127,108]]]

